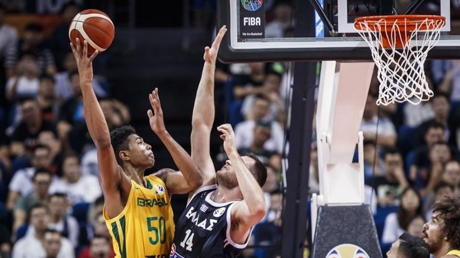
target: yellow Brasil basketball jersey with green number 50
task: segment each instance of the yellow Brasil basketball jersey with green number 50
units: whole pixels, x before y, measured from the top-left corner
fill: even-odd
[[[169,257],[174,239],[170,196],[162,179],[148,175],[147,188],[131,180],[131,190],[123,211],[104,219],[112,236],[117,258]]]

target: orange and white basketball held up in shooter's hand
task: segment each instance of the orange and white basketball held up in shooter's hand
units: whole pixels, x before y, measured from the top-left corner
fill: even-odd
[[[88,55],[93,54],[96,49],[99,52],[105,51],[114,36],[115,28],[110,17],[96,9],[84,10],[75,15],[68,29],[72,44],[76,45],[77,38],[81,46],[84,40],[88,42]]]

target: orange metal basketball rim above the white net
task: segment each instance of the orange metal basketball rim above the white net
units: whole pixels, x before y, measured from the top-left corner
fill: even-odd
[[[440,15],[419,15],[419,14],[408,14],[408,15],[378,15],[378,16],[364,16],[355,19],[355,28],[362,30],[360,23],[365,22],[369,25],[369,28],[374,31],[390,31],[393,25],[396,23],[399,26],[400,31],[413,31],[416,26],[419,30],[432,30],[434,25],[427,26],[424,21],[442,21],[443,27],[446,23],[446,17]],[[431,22],[428,22],[430,24]],[[376,26],[378,24],[378,26]],[[432,24],[432,23],[431,23]]]

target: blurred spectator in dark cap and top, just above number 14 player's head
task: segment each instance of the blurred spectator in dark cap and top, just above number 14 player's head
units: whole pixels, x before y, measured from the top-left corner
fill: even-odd
[[[270,139],[271,123],[258,121],[254,127],[254,140],[248,148],[239,149],[238,152],[244,156],[247,153],[254,153],[256,157],[264,164],[270,165],[275,170],[281,170],[281,156],[274,151],[264,148],[265,142]]]

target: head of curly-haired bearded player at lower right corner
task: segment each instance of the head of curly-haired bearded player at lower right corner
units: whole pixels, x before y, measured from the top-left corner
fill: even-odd
[[[433,216],[423,225],[425,242],[434,253],[440,248],[460,248],[460,199],[445,197],[433,204]]]

